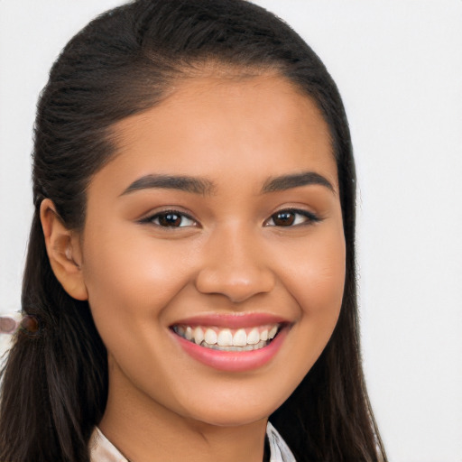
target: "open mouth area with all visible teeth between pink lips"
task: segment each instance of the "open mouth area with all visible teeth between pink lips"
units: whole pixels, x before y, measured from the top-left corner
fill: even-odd
[[[173,332],[200,347],[219,351],[253,351],[268,346],[282,328],[281,323],[254,328],[217,328],[176,325]]]

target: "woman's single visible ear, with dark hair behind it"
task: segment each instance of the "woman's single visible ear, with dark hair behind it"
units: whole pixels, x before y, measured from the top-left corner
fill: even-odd
[[[74,299],[88,300],[81,270],[79,234],[64,225],[51,199],[42,200],[40,219],[48,258],[56,279]]]

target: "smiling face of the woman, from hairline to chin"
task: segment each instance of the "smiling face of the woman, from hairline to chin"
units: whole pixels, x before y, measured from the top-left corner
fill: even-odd
[[[110,397],[217,425],[263,419],[310,370],[340,310],[328,126],[285,79],[209,77],[114,133],[80,249]]]

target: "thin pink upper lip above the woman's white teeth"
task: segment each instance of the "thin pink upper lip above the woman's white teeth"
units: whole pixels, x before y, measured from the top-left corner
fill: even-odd
[[[216,328],[254,328],[265,324],[288,324],[290,321],[268,313],[210,314],[185,318],[172,326],[214,326]]]

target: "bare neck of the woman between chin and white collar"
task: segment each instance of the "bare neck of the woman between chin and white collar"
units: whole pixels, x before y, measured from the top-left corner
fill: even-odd
[[[267,419],[213,425],[172,412],[140,392],[127,399],[124,383],[111,383],[99,428],[131,462],[262,462]]]

